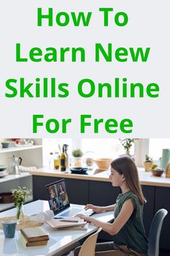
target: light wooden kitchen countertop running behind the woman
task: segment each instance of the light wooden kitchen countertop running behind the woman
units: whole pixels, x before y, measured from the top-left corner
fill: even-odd
[[[30,171],[30,174],[35,176],[51,176],[65,179],[81,179],[91,180],[98,182],[109,182],[109,171],[101,171],[94,169],[87,172],[88,175],[71,174],[70,171],[49,170],[49,168],[40,168],[36,171]],[[157,186],[157,187],[170,187],[170,179],[166,178],[165,174],[161,177],[153,176],[151,172],[144,171],[144,168],[138,168],[139,179],[141,185]]]

